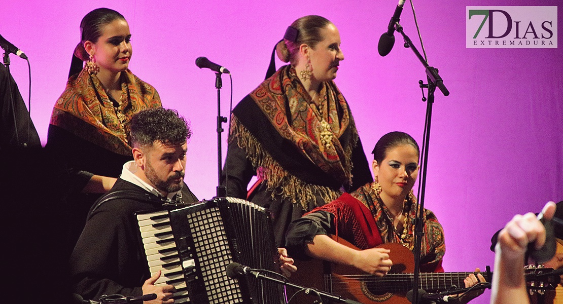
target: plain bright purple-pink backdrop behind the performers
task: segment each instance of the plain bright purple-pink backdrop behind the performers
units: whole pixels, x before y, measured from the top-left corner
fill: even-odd
[[[263,80],[272,47],[303,15],[325,16],[340,31],[346,60],[336,83],[350,103],[368,158],[388,131],[406,131],[422,143],[426,104],[418,88],[418,80],[425,78],[421,63],[401,46],[398,34],[390,55],[377,54],[379,35],[397,2],[295,3],[8,1],[3,3],[0,34],[30,58],[32,118],[44,144],[52,106],[64,89],[79,41],[79,22],[97,7],[121,12],[133,35],[130,69],[158,89],[164,107],[176,108],[191,121],[186,183],[202,199],[214,196],[217,183],[217,105],[215,74],[198,69],[195,58],[206,56],[233,73],[236,104]],[[493,5],[558,3],[514,0]],[[426,207],[444,225],[446,271],[484,269],[493,265],[491,235],[513,214],[538,212],[548,200],[563,199],[563,51],[467,49],[466,6],[487,6],[490,1],[415,4],[430,65],[440,69],[451,92],[449,97],[436,94]],[[419,46],[408,2],[402,17],[406,33]],[[560,42],[562,37],[558,34]],[[12,74],[27,101],[26,63],[11,58]],[[231,88],[229,78],[222,79],[222,115],[227,116]],[[487,303],[489,294],[475,302]]]

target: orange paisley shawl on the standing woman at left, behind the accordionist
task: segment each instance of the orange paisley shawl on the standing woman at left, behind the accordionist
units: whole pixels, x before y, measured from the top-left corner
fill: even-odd
[[[120,155],[131,155],[127,124],[146,108],[162,107],[157,90],[131,71],[121,73],[121,98],[112,102],[100,80],[83,69],[71,76],[55,103],[50,124]]]

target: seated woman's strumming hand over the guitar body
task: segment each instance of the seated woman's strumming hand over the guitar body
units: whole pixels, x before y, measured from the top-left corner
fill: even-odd
[[[389,258],[390,252],[385,248],[358,250],[352,257],[352,266],[369,274],[384,276],[393,266],[393,262]]]

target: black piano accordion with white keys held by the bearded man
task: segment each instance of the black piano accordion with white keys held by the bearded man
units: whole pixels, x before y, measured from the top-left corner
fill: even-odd
[[[150,273],[162,271],[155,285],[173,285],[175,303],[285,303],[283,286],[225,273],[231,262],[280,273],[265,208],[223,197],[135,215]]]

